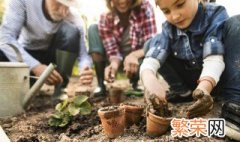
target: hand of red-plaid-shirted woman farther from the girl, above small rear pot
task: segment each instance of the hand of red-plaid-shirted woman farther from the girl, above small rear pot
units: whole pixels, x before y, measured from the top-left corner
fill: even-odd
[[[104,78],[107,82],[114,82],[118,68],[120,66],[120,62],[121,61],[118,59],[111,60],[110,65],[105,68]]]

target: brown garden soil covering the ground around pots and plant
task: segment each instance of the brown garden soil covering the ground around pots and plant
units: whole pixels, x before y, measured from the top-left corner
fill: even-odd
[[[120,81],[123,86],[129,87],[125,80]],[[78,89],[77,78],[72,78],[68,86],[68,94],[74,95]],[[52,87],[45,86],[40,94],[31,102],[29,109],[25,113],[8,119],[0,119],[0,124],[13,142],[78,142],[78,141],[229,141],[227,138],[208,138],[208,137],[190,137],[173,138],[170,130],[163,136],[150,138],[146,135],[146,117],[143,117],[139,124],[125,129],[124,135],[115,139],[105,137],[102,130],[97,110],[103,106],[109,106],[108,99],[105,98],[98,102],[92,102],[93,110],[90,115],[74,117],[73,121],[65,128],[53,128],[48,125],[50,114],[54,112],[55,104],[51,101]],[[143,97],[130,96],[125,97],[124,102],[134,102],[144,105]],[[184,116],[186,108],[191,103],[169,104],[175,116]],[[215,103],[214,110],[206,117],[219,116],[220,104]],[[0,138],[1,139],[1,138]],[[1,141],[1,140],[0,140]]]

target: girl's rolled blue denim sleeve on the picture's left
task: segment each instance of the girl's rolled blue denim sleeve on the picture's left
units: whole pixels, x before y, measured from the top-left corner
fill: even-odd
[[[145,57],[155,58],[163,64],[169,54],[169,37],[166,31],[163,30],[162,33],[148,40],[145,46],[148,49]]]

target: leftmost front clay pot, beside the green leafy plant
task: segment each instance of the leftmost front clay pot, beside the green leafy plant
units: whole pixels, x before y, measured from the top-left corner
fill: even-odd
[[[124,108],[118,106],[100,108],[98,115],[101,119],[104,133],[108,138],[116,138],[124,133]]]

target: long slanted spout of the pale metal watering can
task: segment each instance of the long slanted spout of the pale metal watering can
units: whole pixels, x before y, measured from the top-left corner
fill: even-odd
[[[40,90],[40,88],[44,84],[45,80],[47,79],[47,77],[51,74],[51,72],[54,69],[55,69],[55,65],[50,63],[48,65],[48,67],[44,70],[42,75],[39,77],[39,79],[33,84],[33,86],[30,88],[30,90],[27,92],[27,94],[25,95],[25,97],[23,99],[22,106],[24,109],[28,106],[31,98],[34,95],[36,95],[36,93]]]

